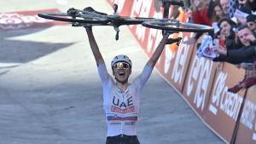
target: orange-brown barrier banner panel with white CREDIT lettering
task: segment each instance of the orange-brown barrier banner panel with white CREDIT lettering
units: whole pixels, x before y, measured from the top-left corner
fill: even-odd
[[[238,84],[244,77],[244,70],[224,63],[223,70],[218,70],[214,78],[205,121],[225,141],[230,141],[236,125],[245,90],[237,94],[227,91]]]

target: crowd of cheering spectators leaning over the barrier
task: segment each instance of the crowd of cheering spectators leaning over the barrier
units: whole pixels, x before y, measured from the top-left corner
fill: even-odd
[[[228,89],[237,93],[256,84],[256,0],[189,0],[189,22],[212,26],[214,62],[225,61],[246,70],[243,80]],[[196,33],[184,43],[195,43]],[[207,56],[206,56],[207,57]],[[208,57],[209,58],[209,57]]]

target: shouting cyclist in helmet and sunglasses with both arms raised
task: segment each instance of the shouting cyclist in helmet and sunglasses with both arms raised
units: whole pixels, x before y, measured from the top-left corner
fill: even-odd
[[[148,81],[154,65],[159,59],[169,34],[166,33],[154,54],[148,60],[143,72],[130,83],[132,63],[128,56],[117,55],[111,62],[114,79],[108,74],[100,49],[97,46],[91,26],[85,27],[90,49],[96,59],[96,65],[103,86],[103,107],[108,125],[106,144],[139,144],[136,123],[140,108],[140,93]]]

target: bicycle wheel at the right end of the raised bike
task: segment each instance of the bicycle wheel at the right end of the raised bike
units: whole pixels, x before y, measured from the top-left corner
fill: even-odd
[[[143,26],[172,32],[212,32],[211,26],[173,21],[145,21]]]

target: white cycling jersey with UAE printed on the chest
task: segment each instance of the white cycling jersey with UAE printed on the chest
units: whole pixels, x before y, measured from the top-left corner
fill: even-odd
[[[140,93],[153,68],[146,65],[143,72],[122,91],[108,74],[104,63],[98,66],[103,85],[103,107],[106,113],[108,136],[137,135],[136,123],[140,105]]]

